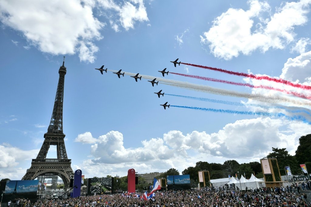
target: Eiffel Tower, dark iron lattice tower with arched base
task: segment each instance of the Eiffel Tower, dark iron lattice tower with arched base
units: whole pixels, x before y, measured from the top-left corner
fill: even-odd
[[[64,188],[68,188],[73,171],[71,159],[68,159],[63,133],[63,98],[64,81],[66,75],[65,57],[63,65],[59,68],[59,80],[54,102],[53,113],[48,127],[48,132],[44,134],[44,142],[36,159],[32,159],[31,167],[27,170],[22,180],[34,180],[39,176],[59,176],[64,182]],[[50,145],[57,146],[57,159],[47,159]]]

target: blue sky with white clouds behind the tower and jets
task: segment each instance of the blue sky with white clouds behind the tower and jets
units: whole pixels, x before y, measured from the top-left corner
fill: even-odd
[[[233,76],[181,62],[283,78],[310,85],[311,1],[70,0],[0,2],[0,176],[21,179],[44,141],[66,56],[63,131],[72,169],[85,177],[181,173],[197,161],[258,161],[272,147],[295,154],[310,125],[285,117],[214,113],[160,104],[300,115],[309,100],[174,74],[165,79],[227,90],[205,93],[112,71],[162,77],[166,71],[266,85],[304,95],[310,91]],[[163,78],[163,77],[162,77]],[[217,104],[176,94],[241,103]],[[248,99],[239,93],[254,94]],[[275,104],[284,107],[275,108]],[[259,104],[254,106],[251,104]],[[263,107],[265,106],[265,107]],[[287,110],[286,110],[287,109]],[[305,110],[291,113],[289,110]],[[56,157],[51,147],[48,158]]]

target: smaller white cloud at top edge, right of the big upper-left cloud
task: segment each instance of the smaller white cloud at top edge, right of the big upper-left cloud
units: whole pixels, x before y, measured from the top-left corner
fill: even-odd
[[[146,7],[143,0],[130,0],[123,5],[117,5],[113,0],[97,0],[100,7],[110,10],[109,15],[105,14],[110,20],[111,27],[118,32],[118,25],[125,30],[134,29],[135,21],[149,21]],[[119,18],[117,21],[116,19]],[[114,23],[111,23],[113,21]]]

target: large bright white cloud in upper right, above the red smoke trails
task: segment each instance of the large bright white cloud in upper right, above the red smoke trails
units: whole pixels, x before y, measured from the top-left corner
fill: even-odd
[[[294,27],[307,22],[310,0],[286,2],[270,18],[262,17],[270,11],[267,2],[252,0],[250,9],[230,8],[214,21],[208,32],[201,36],[201,43],[208,44],[215,57],[226,60],[238,57],[240,53],[251,54],[260,49],[282,49],[294,40]],[[254,21],[258,21],[256,29]]]

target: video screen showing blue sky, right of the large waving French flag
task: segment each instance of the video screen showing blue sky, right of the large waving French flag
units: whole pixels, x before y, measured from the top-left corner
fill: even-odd
[[[168,175],[166,176],[167,190],[190,189],[190,175]]]

